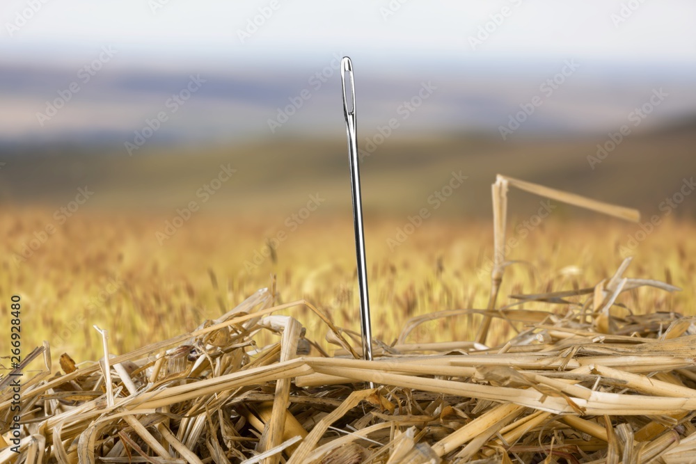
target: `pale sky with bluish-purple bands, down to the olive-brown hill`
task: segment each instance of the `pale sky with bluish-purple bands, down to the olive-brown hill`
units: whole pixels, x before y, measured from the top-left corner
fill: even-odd
[[[0,141],[129,140],[199,74],[207,83],[153,140],[312,134],[341,125],[344,55],[369,131],[429,81],[438,90],[402,133],[500,131],[568,62],[579,70],[521,132],[606,134],[665,87],[649,127],[696,114],[695,18],[690,0],[3,0]],[[42,119],[73,83],[79,94]],[[274,131],[305,89],[311,100]]]

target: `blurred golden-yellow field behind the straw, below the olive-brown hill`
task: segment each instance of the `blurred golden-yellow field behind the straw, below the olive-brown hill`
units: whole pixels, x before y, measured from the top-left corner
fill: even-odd
[[[261,222],[258,216],[229,218],[200,212],[160,245],[157,232],[171,218],[89,210],[56,223],[52,210],[4,210],[0,309],[3,320],[8,320],[10,296],[21,296],[24,353],[48,340],[54,362],[63,352],[77,362],[100,358],[101,339],[93,324],[109,329],[112,353],[132,351],[219,317],[257,289],[271,285],[271,275],[276,275],[277,303],[306,298],[336,325],[358,330],[350,216],[317,213],[292,225],[283,216]],[[395,341],[411,317],[485,309],[488,303],[490,223],[427,218],[395,246],[397,229],[403,230],[406,222],[367,218],[372,324],[375,337],[387,344]],[[43,236],[47,225],[55,230]],[[529,228],[513,216],[508,234],[517,240],[508,259],[515,264],[505,271],[498,307],[514,303],[510,294],[592,287],[610,278],[630,250],[635,257],[627,276],[664,280],[683,291],[667,294],[650,287],[629,291],[618,300],[625,309],[615,306],[614,314],[695,314],[696,225],[663,218],[650,234],[639,233],[637,237],[644,239],[632,246],[630,237],[639,230],[638,224],[617,220],[556,217]],[[31,243],[42,237],[40,245]],[[274,237],[280,240],[269,254],[267,246]],[[541,303],[524,307],[564,310],[561,305]],[[284,313],[306,326],[308,338],[323,339],[326,326],[305,307]],[[472,340],[479,318],[468,315],[425,323],[409,342]],[[514,329],[494,322],[492,330],[489,344],[508,339]],[[8,337],[0,339],[0,352],[5,352]]]

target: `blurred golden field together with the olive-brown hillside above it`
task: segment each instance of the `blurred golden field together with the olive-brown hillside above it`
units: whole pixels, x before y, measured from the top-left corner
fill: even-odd
[[[687,183],[693,191],[695,125],[634,134],[591,167],[587,156],[599,142],[395,137],[365,157],[374,335],[391,343],[410,317],[487,307],[490,189],[498,173],[638,208],[642,223],[656,216],[660,223],[645,234],[639,224],[557,202],[548,218],[528,226],[525,221],[546,200],[511,193],[507,258],[517,264],[505,271],[497,307],[513,303],[510,294],[592,287],[630,253],[635,259],[627,275],[665,280],[683,291],[643,287],[622,295],[619,303],[635,312],[695,314],[696,225],[677,219],[696,217],[693,195],[665,211],[665,199]],[[306,298],[339,326],[358,330],[344,138],[148,150],[124,157],[120,147],[113,152],[47,147],[18,153],[0,170],[0,314],[6,320],[10,296],[22,297],[24,353],[47,339],[54,359],[63,351],[76,360],[100,358],[93,324],[109,329],[111,350],[124,353],[219,317],[271,285],[273,274],[279,303]],[[461,187],[446,192],[451,195],[443,202],[433,198],[455,174],[467,177]],[[228,180],[206,190],[216,178]],[[56,212],[81,198],[79,189],[95,193],[70,217]],[[301,221],[293,219],[312,195],[322,198],[320,206]],[[197,211],[169,237],[167,221],[192,201]],[[397,228],[404,229],[423,208],[429,214],[422,225],[399,236]],[[274,240],[276,259],[263,256]],[[311,338],[323,339],[325,326],[314,316],[301,306],[290,312]],[[423,324],[411,340],[472,339],[479,319]],[[315,328],[319,333],[313,334]],[[494,323],[498,342],[512,335],[506,330]],[[7,344],[0,334],[0,353],[8,351]]]

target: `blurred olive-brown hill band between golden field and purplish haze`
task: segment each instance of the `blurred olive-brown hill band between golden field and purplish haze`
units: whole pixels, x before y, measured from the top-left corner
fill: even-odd
[[[365,150],[365,137],[361,150]],[[485,134],[443,134],[428,138],[387,138],[361,163],[367,214],[406,217],[427,205],[429,195],[450,180],[468,176],[437,214],[488,217],[490,184],[496,173],[637,207],[648,216],[673,195],[683,179],[696,176],[696,119],[624,136],[604,159],[597,145],[609,136],[511,138]],[[366,153],[363,151],[363,153]],[[101,155],[101,156],[97,156]],[[595,157],[595,161],[590,162]],[[86,207],[167,209],[199,200],[196,192],[220,166],[237,170],[214,191],[205,209],[223,214],[290,214],[308,195],[326,197],[322,214],[345,214],[350,194],[345,139],[280,138],[237,145],[152,146],[129,157],[122,147],[6,146],[0,161],[0,202],[64,205],[77,188],[95,191]],[[592,166],[594,164],[594,166]],[[510,211],[521,217],[539,199],[510,196]],[[537,206],[538,207],[538,206]],[[560,214],[583,214],[562,207]],[[696,195],[686,196],[677,214],[696,216]]]

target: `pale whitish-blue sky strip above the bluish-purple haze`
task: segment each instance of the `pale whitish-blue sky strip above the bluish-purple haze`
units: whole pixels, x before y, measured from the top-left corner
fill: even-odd
[[[49,54],[65,61],[109,43],[126,52],[129,59],[122,63],[150,65],[157,63],[153,56],[175,65],[176,58],[262,61],[327,51],[362,54],[366,60],[385,55],[448,61],[572,56],[696,63],[696,3],[689,0],[278,0],[277,10],[245,43],[238,31],[259,8],[269,8],[270,0],[44,1],[10,37],[8,24],[15,24],[29,0],[3,0],[0,51],[5,60]],[[158,3],[164,5],[152,8]],[[638,8],[615,24],[612,15],[629,3]],[[390,4],[401,6],[385,18]],[[469,36],[503,8],[509,8],[503,24],[472,49]]]

